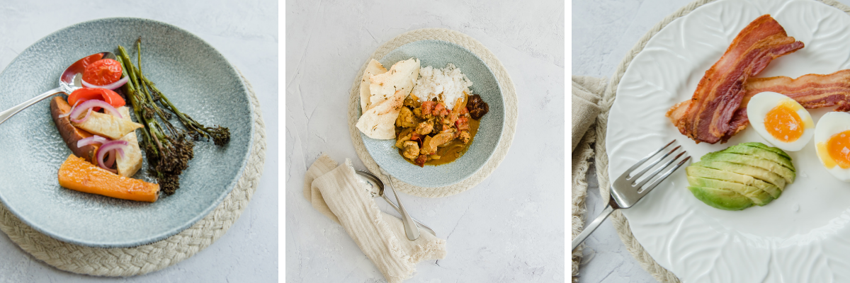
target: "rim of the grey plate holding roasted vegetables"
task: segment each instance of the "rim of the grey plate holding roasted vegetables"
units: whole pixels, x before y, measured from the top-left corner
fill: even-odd
[[[79,246],[91,246],[91,247],[99,247],[99,248],[125,248],[125,247],[144,246],[144,245],[148,245],[148,244],[151,244],[151,243],[155,243],[157,241],[165,240],[170,236],[177,235],[180,231],[183,231],[184,229],[190,228],[192,225],[194,225],[195,223],[197,223],[201,219],[205,218],[210,212],[212,212],[212,210],[214,210],[216,207],[218,207],[218,205],[220,205],[222,203],[222,201],[224,201],[224,198],[227,197],[227,195],[229,195],[230,192],[233,191],[236,183],[239,181],[239,178],[245,173],[247,161],[248,161],[249,157],[251,156],[253,143],[254,143],[254,140],[256,139],[256,137],[254,136],[255,125],[254,125],[253,119],[256,119],[257,112],[254,109],[254,105],[252,105],[252,103],[251,103],[251,98],[249,97],[251,95],[251,93],[250,93],[250,90],[247,88],[246,82],[243,79],[241,72],[238,71],[238,69],[236,69],[236,67],[226,57],[224,57],[224,54],[222,54],[220,51],[218,51],[217,48],[212,46],[212,44],[210,44],[209,42],[203,40],[203,38],[198,37],[194,33],[187,31],[183,28],[180,28],[177,25],[171,25],[171,24],[168,24],[166,22],[159,21],[159,20],[150,20],[150,19],[145,19],[145,18],[107,17],[107,18],[99,18],[99,19],[94,19],[94,20],[85,20],[85,21],[77,22],[77,23],[72,24],[72,25],[66,25],[65,27],[62,27],[59,30],[53,31],[53,32],[49,33],[48,35],[37,39],[35,42],[32,42],[29,46],[24,48],[24,50],[22,50],[18,55],[16,55],[14,57],[14,59],[9,61],[8,65],[6,65],[3,68],[3,71],[0,71],[0,77],[4,76],[6,74],[6,71],[8,71],[9,65],[14,64],[18,59],[20,59],[21,54],[25,54],[26,52],[30,51],[32,48],[34,48],[34,46],[37,43],[44,41],[48,37],[54,37],[55,35],[59,34],[60,32],[68,31],[71,28],[74,28],[74,27],[77,27],[77,26],[80,26],[80,25],[96,24],[96,23],[101,22],[101,21],[106,22],[106,21],[111,21],[111,20],[141,21],[141,22],[148,22],[148,23],[153,24],[153,25],[161,25],[161,26],[164,26],[167,29],[173,29],[173,30],[176,30],[176,31],[183,32],[184,34],[188,35],[188,37],[194,38],[198,42],[201,42],[201,44],[206,45],[208,48],[211,48],[213,51],[215,51],[216,54],[221,56],[221,58],[224,60],[224,62],[227,63],[226,71],[229,71],[230,73],[235,75],[236,78],[238,78],[238,82],[240,82],[240,88],[242,89],[242,91],[246,95],[248,110],[249,110],[249,113],[250,113],[251,119],[252,119],[252,122],[249,123],[250,124],[250,135],[249,135],[249,138],[248,138],[248,150],[246,150],[245,155],[242,156],[241,165],[240,165],[239,170],[236,171],[235,177],[230,180],[229,184],[227,184],[227,188],[223,191],[223,193],[221,195],[218,195],[216,200],[212,201],[212,204],[210,206],[205,207],[201,211],[201,213],[198,213],[197,215],[195,215],[195,217],[190,218],[190,220],[187,221],[186,223],[179,225],[179,226],[175,226],[172,229],[167,229],[165,232],[162,232],[158,235],[152,235],[150,237],[145,237],[144,239],[139,239],[139,240],[134,240],[134,241],[114,241],[114,242],[82,241],[82,240],[79,240],[79,239],[73,239],[73,238],[70,238],[70,237],[67,237],[67,236],[63,236],[63,235],[56,235],[54,232],[49,231],[47,229],[44,229],[43,227],[32,222],[31,219],[23,217],[20,214],[20,212],[16,211],[13,207],[10,207],[8,205],[8,201],[6,201],[3,198],[3,195],[0,194],[0,203],[2,203],[3,206],[6,207],[6,209],[9,212],[12,212],[12,214],[15,217],[19,218],[22,223],[29,225],[32,229],[35,229],[35,230],[37,230],[38,232],[40,232],[44,235],[48,235],[49,237],[54,238],[54,239],[59,240],[59,241],[64,241],[64,242],[79,245]]]

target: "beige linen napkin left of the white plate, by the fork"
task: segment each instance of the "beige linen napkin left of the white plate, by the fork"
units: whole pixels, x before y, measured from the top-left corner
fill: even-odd
[[[605,90],[606,80],[591,76],[573,76],[572,97],[572,238],[584,229],[587,209],[587,169],[593,156],[591,144],[596,141],[594,123],[601,108],[599,98]],[[578,281],[579,263],[581,262],[583,246],[572,252],[572,280]]]

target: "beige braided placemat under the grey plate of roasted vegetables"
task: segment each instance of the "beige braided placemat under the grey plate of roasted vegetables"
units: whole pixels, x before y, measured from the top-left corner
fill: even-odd
[[[240,73],[241,76],[241,73]],[[265,163],[265,123],[257,95],[245,76],[254,109],[254,133],[251,154],[235,188],[218,207],[189,229],[165,240],[129,248],[97,248],[77,246],[56,240],[32,229],[0,204],[0,230],[33,257],[57,269],[83,275],[133,276],[144,275],[179,263],[201,252],[224,235],[239,218],[257,190]]]

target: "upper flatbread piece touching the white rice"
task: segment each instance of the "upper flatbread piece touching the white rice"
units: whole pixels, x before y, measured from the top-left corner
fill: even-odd
[[[381,102],[389,100],[399,91],[404,93],[406,98],[416,85],[417,78],[419,78],[419,59],[399,61],[390,67],[389,71],[370,76],[370,107],[376,107]]]

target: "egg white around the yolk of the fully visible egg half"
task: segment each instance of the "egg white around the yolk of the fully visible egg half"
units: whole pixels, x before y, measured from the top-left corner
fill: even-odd
[[[795,106],[794,108],[796,108],[796,113],[800,116],[800,119],[803,122],[802,136],[800,136],[800,139],[796,139],[790,143],[774,138],[773,135],[768,133],[768,130],[764,125],[764,117],[768,115],[770,110],[773,110],[780,102],[783,101],[788,101],[793,105],[799,106]],[[780,93],[763,92],[754,95],[750,99],[750,102],[746,105],[746,115],[750,120],[750,125],[756,129],[756,133],[768,141],[768,144],[778,147],[781,150],[802,150],[802,148],[808,144],[808,141],[812,140],[812,136],[814,135],[814,122],[812,121],[812,115],[808,114],[808,110],[803,108],[802,105],[797,103],[794,99]]]

